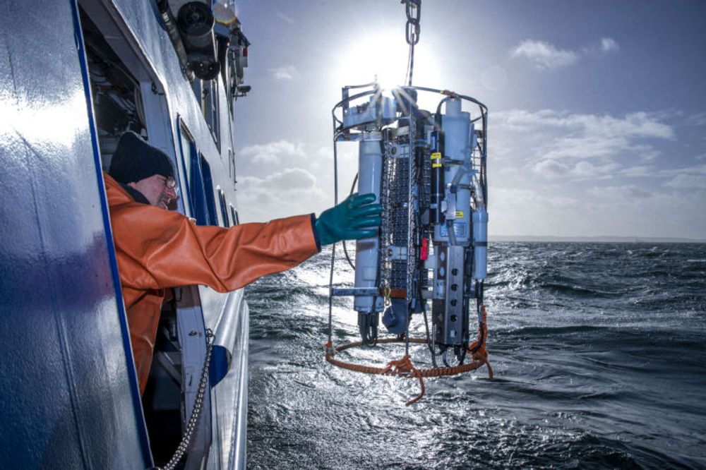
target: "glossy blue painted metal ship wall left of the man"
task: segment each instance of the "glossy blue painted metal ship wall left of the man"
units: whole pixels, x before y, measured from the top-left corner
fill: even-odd
[[[0,30],[3,466],[145,468],[72,4]]]

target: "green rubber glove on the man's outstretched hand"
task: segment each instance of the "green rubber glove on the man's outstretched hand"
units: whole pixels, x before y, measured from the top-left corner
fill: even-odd
[[[323,245],[330,245],[341,240],[366,239],[378,234],[382,224],[380,217],[383,206],[373,204],[376,196],[372,193],[349,195],[348,198],[321,212],[316,219],[316,234]]]

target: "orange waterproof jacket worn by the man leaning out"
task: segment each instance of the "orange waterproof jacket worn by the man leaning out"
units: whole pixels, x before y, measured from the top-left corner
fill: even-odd
[[[140,393],[152,364],[162,289],[202,284],[232,291],[318,252],[312,215],[229,229],[198,226],[179,212],[138,203],[111,176],[104,179]]]

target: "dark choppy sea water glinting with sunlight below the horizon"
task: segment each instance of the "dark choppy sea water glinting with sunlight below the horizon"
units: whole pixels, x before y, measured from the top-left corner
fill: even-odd
[[[329,263],[246,289],[249,469],[706,468],[706,245],[491,243],[495,378],[426,380],[412,406],[416,380],[325,362]],[[341,257],[335,284],[351,283]],[[333,327],[335,344],[357,339],[351,299],[334,299]]]

